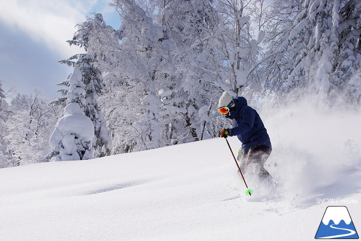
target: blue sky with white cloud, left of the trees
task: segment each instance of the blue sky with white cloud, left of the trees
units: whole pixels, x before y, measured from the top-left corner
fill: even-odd
[[[106,23],[118,28],[111,0],[0,0],[0,80],[5,92],[21,94],[43,91],[53,99],[57,83],[66,80],[72,68],[57,61],[83,49],[70,47],[75,24],[91,13],[102,13]]]

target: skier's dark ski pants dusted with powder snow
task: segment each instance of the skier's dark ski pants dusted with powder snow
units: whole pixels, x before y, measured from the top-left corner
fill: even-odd
[[[270,173],[264,165],[271,154],[272,148],[266,145],[252,147],[247,153],[237,156],[241,163],[241,171],[257,175],[260,179],[271,181]]]

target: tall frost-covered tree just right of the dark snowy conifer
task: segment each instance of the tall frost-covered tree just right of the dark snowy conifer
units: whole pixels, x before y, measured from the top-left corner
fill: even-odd
[[[168,62],[162,49],[172,43],[167,40],[165,27],[154,24],[135,1],[118,0],[115,5],[122,18],[117,32],[121,40],[114,39],[110,46],[94,49],[97,55],[112,50],[97,63],[104,72],[107,88],[102,98],[119,98],[120,108],[130,108],[117,116],[112,111],[106,114],[111,130],[123,130],[113,132],[113,144],[123,146],[124,151],[135,146],[138,150],[156,148],[160,146],[161,129],[159,91],[164,88],[169,72],[165,71]],[[115,90],[119,92],[116,96]],[[117,102],[103,104],[106,109],[113,109],[110,105],[114,101]]]

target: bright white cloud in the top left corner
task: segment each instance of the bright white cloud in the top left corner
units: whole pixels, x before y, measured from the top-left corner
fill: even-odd
[[[44,43],[62,58],[83,51],[66,43],[76,31],[75,24],[83,22],[94,6],[105,9],[107,5],[105,0],[0,1],[0,21],[26,33],[34,41]]]

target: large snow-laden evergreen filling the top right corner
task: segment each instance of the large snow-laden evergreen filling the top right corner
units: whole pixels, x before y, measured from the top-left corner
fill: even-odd
[[[360,16],[357,0],[302,1],[279,47],[291,63],[288,90],[306,87],[323,97],[346,91],[349,100],[360,100]]]

